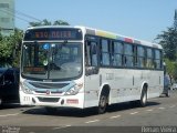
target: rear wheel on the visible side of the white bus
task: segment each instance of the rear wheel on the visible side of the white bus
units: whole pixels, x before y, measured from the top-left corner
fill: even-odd
[[[147,104],[147,88],[144,86],[142,91],[140,100],[139,100],[139,105],[144,108],[146,106],[146,104]]]

